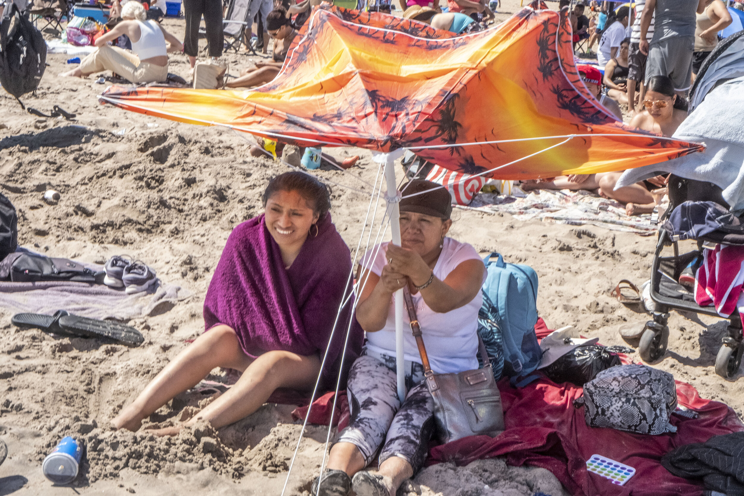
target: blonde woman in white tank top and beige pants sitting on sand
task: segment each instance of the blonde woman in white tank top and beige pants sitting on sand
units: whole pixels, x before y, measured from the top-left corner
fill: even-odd
[[[60,76],[85,77],[102,71],[112,71],[130,83],[162,83],[168,77],[168,52],[182,51],[183,45],[176,36],[161,28],[155,21],[148,21],[144,7],[138,1],[127,2],[121,10],[121,22],[95,41],[98,47],[72,71]],[[108,45],[126,35],[132,42],[132,51]]]

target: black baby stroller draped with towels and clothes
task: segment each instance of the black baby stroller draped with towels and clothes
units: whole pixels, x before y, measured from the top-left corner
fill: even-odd
[[[692,91],[690,91],[690,94],[693,94],[693,100],[702,101],[702,97],[705,96],[704,94],[696,94],[696,91],[707,90],[707,94],[722,83],[734,79],[734,77],[744,75],[744,72],[740,74],[740,70],[737,68],[727,73],[725,79],[711,81],[709,77],[705,81],[705,72],[716,62],[716,59],[722,57],[729,48],[732,50],[738,50],[740,48],[739,45],[741,42],[737,45],[734,45],[734,42],[737,42],[743,35],[744,31],[740,31],[729,36],[720,42],[716,49],[705,59],[695,85]],[[734,46],[732,47],[731,45]],[[722,207],[725,207],[725,209],[730,210],[731,207],[723,199],[722,193],[723,190],[716,186],[716,184],[670,175],[670,205],[664,214],[664,218],[667,218],[679,204],[685,201],[716,202]],[[659,230],[658,243],[652,262],[650,283],[650,296],[655,302],[656,308],[655,312],[653,312],[653,320],[648,321],[646,326],[644,326],[641,342],[638,347],[639,354],[644,361],[656,361],[664,356],[664,353],[667,351],[667,341],[669,339],[667,319],[669,318],[670,309],[719,317],[713,306],[699,306],[695,302],[693,294],[679,284],[679,277],[690,263],[695,263],[696,260],[702,260],[703,250],[713,248],[716,244],[743,246],[744,235],[716,230],[707,233],[705,236],[696,238],[696,242],[696,250],[680,254],[679,242],[673,241],[673,236],[666,229],[661,228]],[[673,256],[662,256],[664,248],[670,246],[673,247]],[[728,335],[722,338],[722,346],[716,356],[716,373],[725,379],[734,376],[737,370],[739,370],[743,354],[744,339],[741,315],[738,311],[734,311],[729,316]]]

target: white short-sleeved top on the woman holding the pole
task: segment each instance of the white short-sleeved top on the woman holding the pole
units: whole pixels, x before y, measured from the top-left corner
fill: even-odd
[[[382,243],[377,257],[371,261],[375,248],[368,251],[359,265],[379,275],[382,267],[388,263],[385,254],[388,251],[388,243]],[[471,245],[455,241],[452,238],[444,238],[442,253],[434,265],[434,276],[444,280],[447,275],[465,260],[481,260],[478,252]],[[371,263],[373,262],[373,263]],[[484,271],[484,281],[486,274]],[[426,345],[426,354],[429,355],[429,364],[435,373],[458,373],[464,370],[478,368],[478,310],[481,309],[483,297],[481,293],[472,299],[470,303],[446,313],[437,313],[429,308],[423,300],[421,293],[411,294],[416,315],[421,324],[423,342]],[[411,334],[410,319],[408,312],[403,312],[403,350],[405,360],[421,363],[416,346],[416,339]],[[377,332],[367,332],[367,347],[369,350],[395,356],[395,296],[391,298],[388,310],[388,321],[385,327]]]

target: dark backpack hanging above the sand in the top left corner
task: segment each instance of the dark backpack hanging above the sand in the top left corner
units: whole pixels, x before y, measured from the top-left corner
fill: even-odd
[[[46,42],[42,33],[21,15],[16,4],[0,22],[0,84],[20,100],[36,90],[46,68]]]

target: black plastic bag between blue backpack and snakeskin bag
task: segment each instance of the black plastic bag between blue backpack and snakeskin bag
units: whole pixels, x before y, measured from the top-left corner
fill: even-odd
[[[603,370],[620,365],[620,357],[617,353],[633,351],[620,346],[603,347],[599,344],[586,344],[562,355],[542,369],[542,373],[557,384],[571,382],[577,386],[583,386]]]

